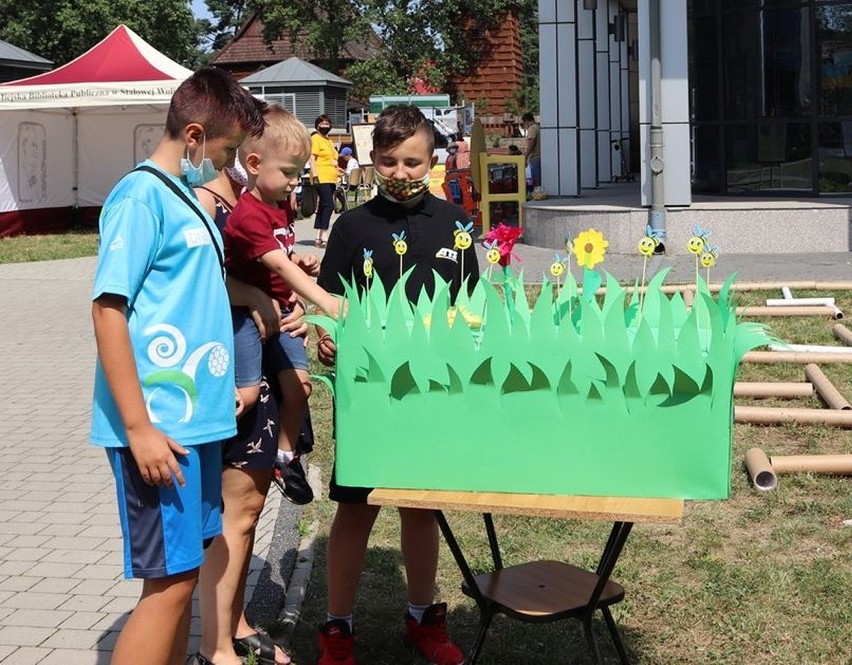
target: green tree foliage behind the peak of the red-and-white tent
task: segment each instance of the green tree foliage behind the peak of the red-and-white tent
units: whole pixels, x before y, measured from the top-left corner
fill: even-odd
[[[187,0],[0,0],[0,39],[62,65],[124,23],[186,66],[199,56],[199,25]],[[203,27],[203,26],[201,26]]]

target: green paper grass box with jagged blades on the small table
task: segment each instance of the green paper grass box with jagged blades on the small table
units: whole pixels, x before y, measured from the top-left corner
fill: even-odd
[[[341,484],[728,496],[736,367],[771,341],[736,321],[732,279],[715,299],[699,279],[688,311],[660,273],[640,317],[610,275],[599,302],[591,270],[581,294],[568,273],[535,302],[518,278],[481,278],[452,309],[437,275],[412,307],[408,275],[389,293],[378,275],[369,293],[346,284],[346,316],[313,317],[337,345]]]

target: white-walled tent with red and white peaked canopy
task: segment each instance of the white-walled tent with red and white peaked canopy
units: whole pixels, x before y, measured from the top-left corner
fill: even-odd
[[[124,25],[55,70],[0,84],[0,237],[69,228],[151,154],[192,72]]]

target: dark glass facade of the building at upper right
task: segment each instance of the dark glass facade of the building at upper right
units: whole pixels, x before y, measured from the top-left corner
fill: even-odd
[[[852,3],[690,0],[695,193],[852,192]]]

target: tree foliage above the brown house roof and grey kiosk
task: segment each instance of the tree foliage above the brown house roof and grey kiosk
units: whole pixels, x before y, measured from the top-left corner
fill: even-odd
[[[258,12],[267,42],[288,34],[331,71],[341,71],[347,43],[376,45],[373,55],[346,63],[344,75],[360,97],[404,93],[415,79],[442,89],[449,78],[472,70],[487,57],[482,35],[514,8],[522,21],[529,77],[525,90],[519,91],[519,103],[529,105],[533,95],[527,88],[537,89],[537,0],[208,0],[207,4],[217,16],[216,8],[227,5]]]

